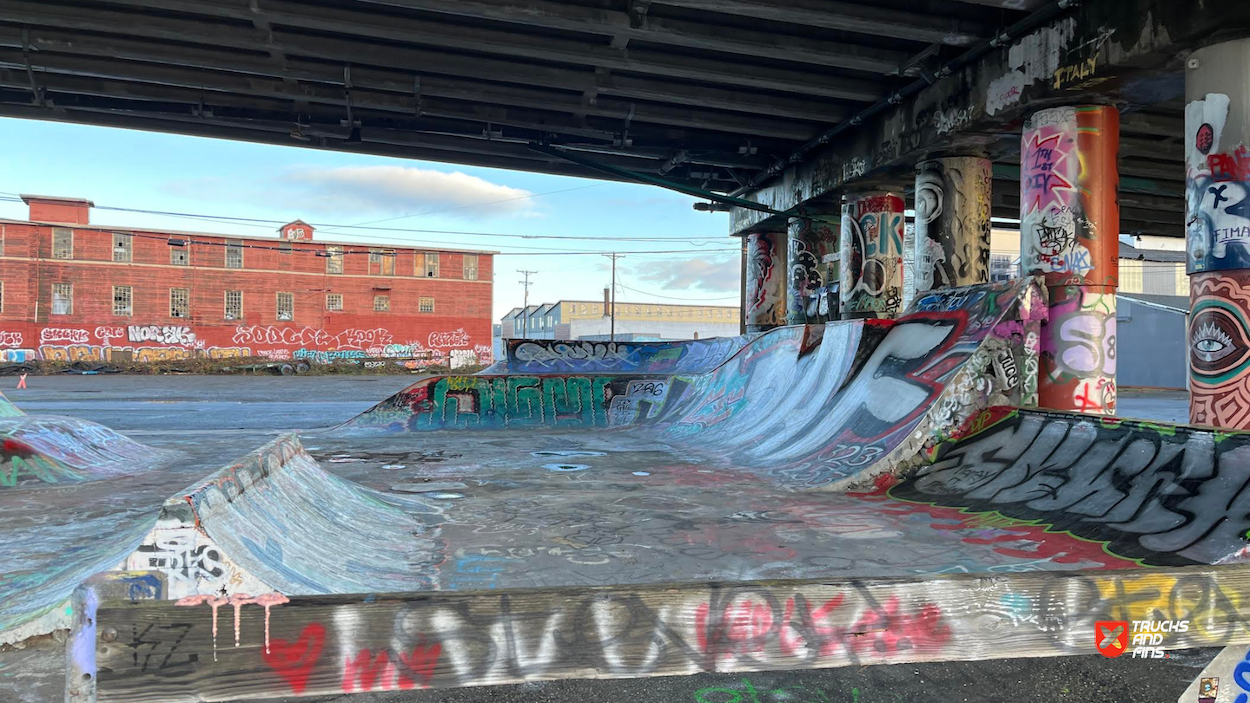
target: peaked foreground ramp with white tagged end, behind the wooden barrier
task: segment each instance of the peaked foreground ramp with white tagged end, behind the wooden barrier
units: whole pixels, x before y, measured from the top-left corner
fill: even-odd
[[[125,568],[164,572],[174,598],[421,590],[434,513],[321,470],[284,435],[166,500]]]

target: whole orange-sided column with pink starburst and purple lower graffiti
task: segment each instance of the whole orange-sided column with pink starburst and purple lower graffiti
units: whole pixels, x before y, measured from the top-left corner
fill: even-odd
[[[1024,124],[1021,266],[1044,275],[1050,293],[1038,379],[1042,408],[1115,414],[1119,144],[1119,113],[1105,105],[1040,110]]]

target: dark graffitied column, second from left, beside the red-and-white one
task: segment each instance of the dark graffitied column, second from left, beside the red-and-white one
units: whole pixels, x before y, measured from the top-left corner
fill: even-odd
[[[838,319],[838,215],[801,213],[790,218],[786,261],[786,324],[801,325]]]

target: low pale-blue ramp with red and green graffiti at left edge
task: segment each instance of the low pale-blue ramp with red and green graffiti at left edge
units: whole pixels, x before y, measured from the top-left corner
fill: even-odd
[[[171,457],[86,420],[0,417],[0,489],[141,473]]]

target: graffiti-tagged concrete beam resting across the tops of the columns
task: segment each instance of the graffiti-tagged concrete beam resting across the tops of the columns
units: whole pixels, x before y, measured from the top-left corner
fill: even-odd
[[[1089,0],[1074,14],[1009,46],[990,50],[864,125],[844,131],[744,196],[790,211],[850,185],[906,178],[918,160],[932,155],[1011,154],[1019,150],[1015,125],[1028,114],[1061,103],[1131,105],[1142,95],[1159,101],[1175,98],[1182,88],[1175,78],[1178,55],[1201,43],[1246,31],[1250,3],[1242,0],[1210,0],[1202,5]],[[1176,125],[1160,126],[1172,121],[1168,118],[1138,121],[1168,136],[1182,134]],[[1132,130],[1125,126],[1124,131]],[[1131,175],[1141,174],[1145,169],[1135,166]],[[775,228],[782,219],[735,209],[731,231]]]

